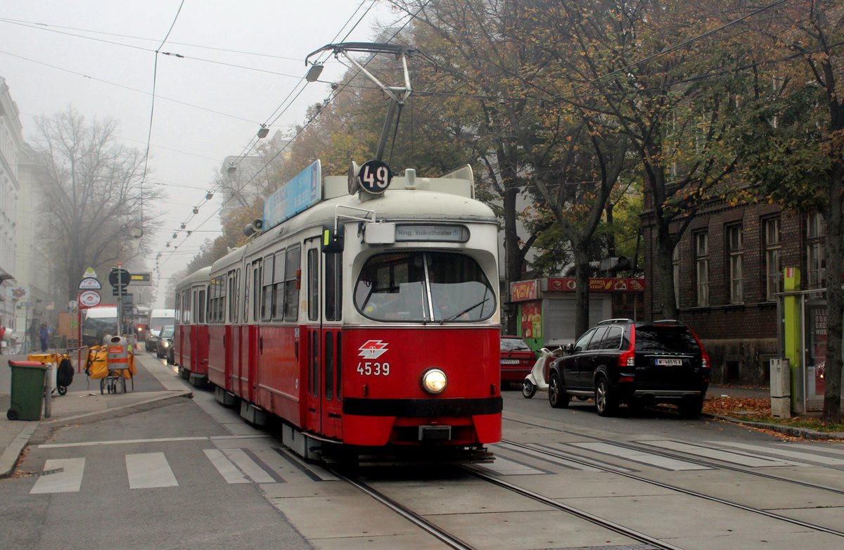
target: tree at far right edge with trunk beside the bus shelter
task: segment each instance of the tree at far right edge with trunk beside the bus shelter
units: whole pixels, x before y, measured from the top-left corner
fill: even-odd
[[[844,368],[844,5],[788,3],[753,28],[766,39],[766,59],[776,62],[760,67],[770,84],[756,89],[755,111],[742,128],[745,166],[750,181],[772,201],[823,215],[827,341],[822,419],[838,423]]]

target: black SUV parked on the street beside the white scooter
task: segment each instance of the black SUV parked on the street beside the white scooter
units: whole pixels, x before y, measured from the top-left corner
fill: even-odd
[[[709,356],[679,321],[601,321],[566,351],[551,364],[551,407],[568,407],[576,396],[594,397],[601,416],[612,415],[623,402],[628,407],[675,403],[684,417],[701,414]]]

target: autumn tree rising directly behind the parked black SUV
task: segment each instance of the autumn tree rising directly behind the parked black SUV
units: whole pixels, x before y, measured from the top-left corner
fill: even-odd
[[[602,115],[636,155],[657,233],[652,283],[667,318],[678,315],[674,248],[737,162],[725,136],[736,121],[730,98],[743,83],[734,78],[741,54],[736,32],[723,25],[727,8],[721,2],[584,0],[542,13],[575,40],[561,49],[560,62],[569,60],[565,67],[578,93],[560,99]],[[717,38],[702,40],[716,30]]]

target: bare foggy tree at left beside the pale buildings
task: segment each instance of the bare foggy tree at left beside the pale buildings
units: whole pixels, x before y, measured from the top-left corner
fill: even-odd
[[[87,267],[108,272],[130,256],[143,256],[160,214],[150,205],[161,197],[142,186],[143,154],[115,143],[117,123],[88,124],[73,106],[36,120],[35,150],[46,174],[41,184],[41,237],[63,273],[68,299],[77,298]],[[144,208],[144,206],[146,208]]]

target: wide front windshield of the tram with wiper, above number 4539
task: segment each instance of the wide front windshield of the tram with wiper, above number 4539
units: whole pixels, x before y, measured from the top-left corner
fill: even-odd
[[[408,251],[372,256],[354,286],[354,305],[376,321],[475,322],[498,305],[469,256]]]

